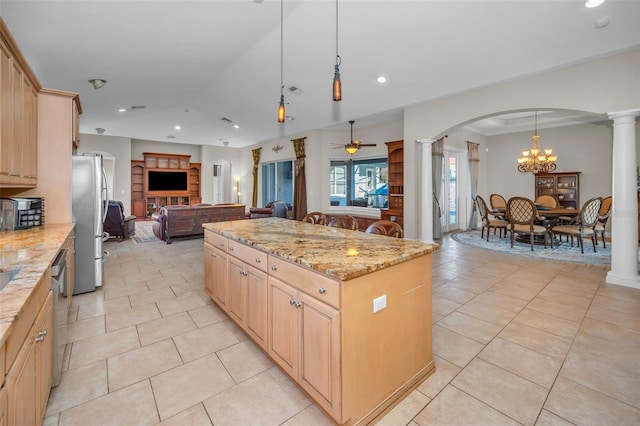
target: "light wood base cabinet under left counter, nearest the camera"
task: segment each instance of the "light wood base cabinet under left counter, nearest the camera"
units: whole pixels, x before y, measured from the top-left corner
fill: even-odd
[[[49,291],[7,374],[10,425],[38,425],[44,418],[53,371],[52,297]]]

